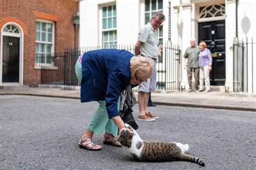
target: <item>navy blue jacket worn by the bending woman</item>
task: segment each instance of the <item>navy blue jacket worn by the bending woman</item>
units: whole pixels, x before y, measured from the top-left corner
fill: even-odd
[[[130,59],[126,50],[98,49],[83,54],[81,102],[106,100],[109,118],[119,116],[117,102],[130,84]]]

